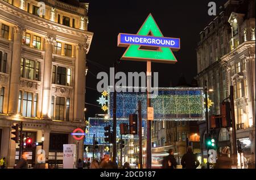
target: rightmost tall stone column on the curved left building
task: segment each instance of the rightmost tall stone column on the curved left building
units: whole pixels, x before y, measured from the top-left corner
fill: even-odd
[[[84,120],[85,103],[85,45],[77,45],[75,64],[74,120]]]

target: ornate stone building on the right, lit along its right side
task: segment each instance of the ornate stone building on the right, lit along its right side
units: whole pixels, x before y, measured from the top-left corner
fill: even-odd
[[[197,47],[197,81],[207,81],[209,98],[214,102],[210,115],[220,115],[221,102],[234,86],[237,139],[245,145],[246,161],[255,161],[255,1],[227,1],[200,32]],[[200,123],[204,137],[205,124]],[[222,128],[216,138],[232,149],[232,131]],[[224,142],[225,141],[225,142]],[[204,139],[201,139],[202,147]],[[255,163],[255,162],[254,162]]]

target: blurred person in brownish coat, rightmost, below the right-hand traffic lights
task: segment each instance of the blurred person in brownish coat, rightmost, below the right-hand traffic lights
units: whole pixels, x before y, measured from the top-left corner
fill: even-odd
[[[214,169],[231,169],[232,159],[228,157],[230,153],[229,148],[222,149],[221,156],[217,158]]]

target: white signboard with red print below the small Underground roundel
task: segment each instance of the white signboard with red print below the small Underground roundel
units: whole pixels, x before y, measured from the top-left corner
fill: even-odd
[[[63,169],[76,167],[76,145],[63,144]]]

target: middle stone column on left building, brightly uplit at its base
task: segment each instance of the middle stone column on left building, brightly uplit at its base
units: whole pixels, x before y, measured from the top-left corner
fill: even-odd
[[[42,118],[50,118],[50,101],[51,101],[51,75],[52,75],[52,50],[55,37],[47,36],[45,38],[46,53],[44,55],[44,78],[43,78],[43,103]]]

